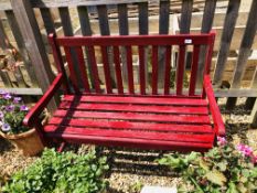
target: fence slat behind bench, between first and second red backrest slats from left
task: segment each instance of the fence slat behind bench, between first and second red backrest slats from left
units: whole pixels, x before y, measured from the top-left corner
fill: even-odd
[[[63,7],[63,8],[58,8],[58,12],[60,12],[60,17],[61,17],[61,21],[62,21],[62,26],[63,26],[63,31],[64,31],[64,35],[65,36],[73,36],[73,28],[72,28],[72,21],[71,21],[71,17],[69,17],[69,12],[68,12],[68,8],[67,7]],[[76,57],[76,53],[74,51],[74,49],[71,49],[71,60],[73,61],[74,67],[73,67],[73,73],[74,76],[77,77],[78,82],[77,82],[77,86],[78,88],[83,88],[83,81],[82,81],[82,76],[84,76],[84,74],[81,74],[78,65],[77,65],[77,57]],[[72,75],[72,74],[71,74]]]

